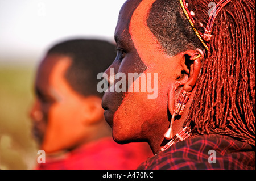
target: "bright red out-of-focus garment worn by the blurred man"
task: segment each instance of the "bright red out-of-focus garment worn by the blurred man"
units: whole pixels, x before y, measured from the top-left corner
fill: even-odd
[[[112,137],[91,142],[61,158],[48,158],[38,164],[39,170],[122,170],[136,169],[152,153],[146,143],[120,145]]]

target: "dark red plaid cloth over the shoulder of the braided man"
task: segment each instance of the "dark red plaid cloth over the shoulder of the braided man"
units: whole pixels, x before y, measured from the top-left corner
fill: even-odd
[[[216,151],[216,163],[208,162],[209,150]],[[255,169],[255,147],[218,134],[191,137],[147,159],[142,169]]]

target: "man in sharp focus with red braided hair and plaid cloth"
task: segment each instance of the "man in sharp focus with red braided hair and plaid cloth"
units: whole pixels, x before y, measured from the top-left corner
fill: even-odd
[[[102,107],[116,142],[150,145],[138,169],[255,169],[255,1],[129,0],[115,40],[105,72],[138,76]],[[154,99],[133,92],[146,73]]]

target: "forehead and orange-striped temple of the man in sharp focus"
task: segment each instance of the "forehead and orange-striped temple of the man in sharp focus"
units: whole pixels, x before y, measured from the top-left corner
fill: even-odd
[[[160,65],[162,61],[166,62],[171,58],[147,26],[154,2],[155,0],[127,1],[120,11],[115,31],[117,44],[124,48],[133,47],[147,68]]]

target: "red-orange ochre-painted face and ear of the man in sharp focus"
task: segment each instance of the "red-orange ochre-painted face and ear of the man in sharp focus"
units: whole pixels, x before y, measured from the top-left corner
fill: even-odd
[[[147,91],[119,94],[108,92],[104,94],[102,107],[106,110],[105,119],[113,129],[115,141],[147,141],[151,148],[158,149],[170,123],[168,111],[172,113],[175,96],[179,95],[178,87],[184,85],[188,77],[181,74],[184,66],[180,61],[184,60],[184,54],[176,57],[165,54],[147,27],[148,14],[154,2],[135,0],[123,5],[115,37],[118,48],[125,53],[119,51],[110,68],[114,68],[115,73],[125,73],[126,77],[129,72],[158,73],[158,97],[148,99]],[[106,73],[109,73],[109,69]],[[110,89],[113,87],[110,86]]]

